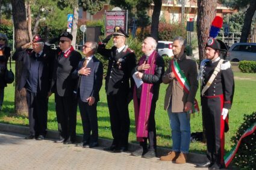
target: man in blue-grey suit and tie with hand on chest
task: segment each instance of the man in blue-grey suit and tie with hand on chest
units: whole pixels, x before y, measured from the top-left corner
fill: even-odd
[[[76,79],[79,77],[76,94],[84,130],[83,147],[90,148],[99,145],[96,107],[102,86],[103,65],[94,55],[97,49],[96,42],[89,41],[84,44],[83,53],[86,57],[79,62],[78,68],[72,74]]]

